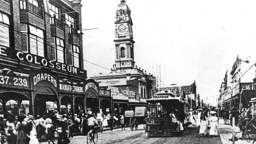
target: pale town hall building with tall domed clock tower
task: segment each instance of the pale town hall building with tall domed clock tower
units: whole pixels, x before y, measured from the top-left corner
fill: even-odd
[[[155,94],[156,79],[135,65],[133,22],[125,0],[117,6],[115,17],[115,63],[110,74],[90,77],[100,87],[111,89],[114,111],[122,113],[136,106],[147,106],[146,99]]]

